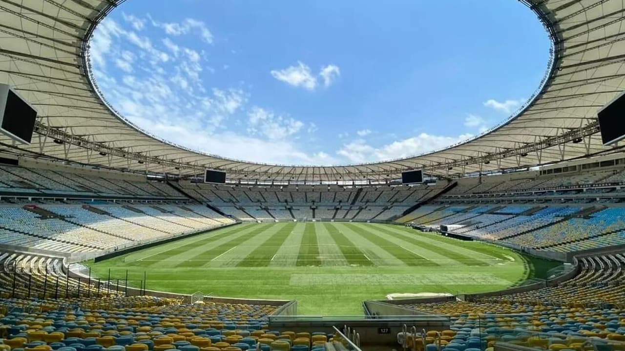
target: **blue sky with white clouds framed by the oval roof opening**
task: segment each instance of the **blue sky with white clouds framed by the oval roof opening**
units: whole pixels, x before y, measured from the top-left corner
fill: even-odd
[[[126,119],[232,159],[341,165],[441,149],[536,91],[549,39],[516,0],[131,0],[95,81]]]

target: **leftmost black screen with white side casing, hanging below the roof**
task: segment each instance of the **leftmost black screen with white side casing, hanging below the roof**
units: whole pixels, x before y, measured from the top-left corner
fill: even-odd
[[[9,90],[2,117],[2,129],[30,144],[36,119],[37,111]]]

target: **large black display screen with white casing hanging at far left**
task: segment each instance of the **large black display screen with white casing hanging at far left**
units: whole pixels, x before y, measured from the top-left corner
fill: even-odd
[[[16,92],[0,84],[0,132],[15,141],[30,144],[37,111]]]

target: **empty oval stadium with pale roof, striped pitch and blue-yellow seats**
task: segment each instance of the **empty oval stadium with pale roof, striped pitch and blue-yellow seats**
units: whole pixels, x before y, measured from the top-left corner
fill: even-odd
[[[123,2],[0,0],[0,350],[625,350],[625,2],[520,0],[526,104],[344,166],[134,125],[90,53]]]

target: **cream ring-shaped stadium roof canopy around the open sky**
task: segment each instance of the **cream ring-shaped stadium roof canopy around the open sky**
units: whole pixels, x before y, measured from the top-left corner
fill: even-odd
[[[119,116],[93,81],[88,46],[94,28],[123,1],[0,0],[0,82],[39,111],[32,144],[0,136],[0,151],[155,173],[194,175],[210,168],[227,171],[229,179],[334,181],[394,179],[419,168],[441,176],[497,171],[619,149],[601,145],[596,111],[625,89],[622,0],[522,0],[551,36],[552,64],[531,102],[491,131],[406,159],[327,167],[204,154],[150,136]]]

